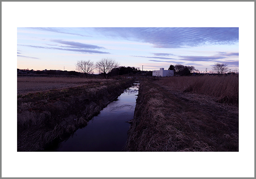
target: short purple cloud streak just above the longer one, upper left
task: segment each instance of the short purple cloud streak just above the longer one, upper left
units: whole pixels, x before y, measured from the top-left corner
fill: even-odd
[[[62,46],[62,47],[68,47],[68,48],[105,49],[104,47],[99,47],[97,45],[90,45],[90,44],[80,43],[80,42],[63,41],[63,40],[57,40],[57,39],[52,39],[50,41],[68,45],[68,46]]]

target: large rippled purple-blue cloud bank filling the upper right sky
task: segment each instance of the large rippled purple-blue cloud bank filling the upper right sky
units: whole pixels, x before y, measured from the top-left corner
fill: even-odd
[[[239,28],[95,28],[105,36],[151,43],[157,48],[234,44]]]

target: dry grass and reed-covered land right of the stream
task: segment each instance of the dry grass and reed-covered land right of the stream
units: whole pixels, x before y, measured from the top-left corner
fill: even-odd
[[[222,84],[228,78],[211,79],[141,81],[126,151],[238,151],[238,88],[233,100],[221,101],[228,96],[223,89],[213,93],[207,85],[216,87],[216,80]]]

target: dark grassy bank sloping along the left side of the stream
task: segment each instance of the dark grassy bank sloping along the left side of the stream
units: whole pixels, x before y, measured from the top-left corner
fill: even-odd
[[[53,140],[70,136],[132,84],[130,79],[90,80],[85,85],[18,95],[17,150],[43,150]]]

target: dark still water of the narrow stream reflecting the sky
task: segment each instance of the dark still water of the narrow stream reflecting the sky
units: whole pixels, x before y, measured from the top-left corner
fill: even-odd
[[[139,83],[124,90],[117,100],[93,117],[86,127],[61,142],[55,151],[122,151],[130,126],[126,121],[133,119],[138,90]]]

